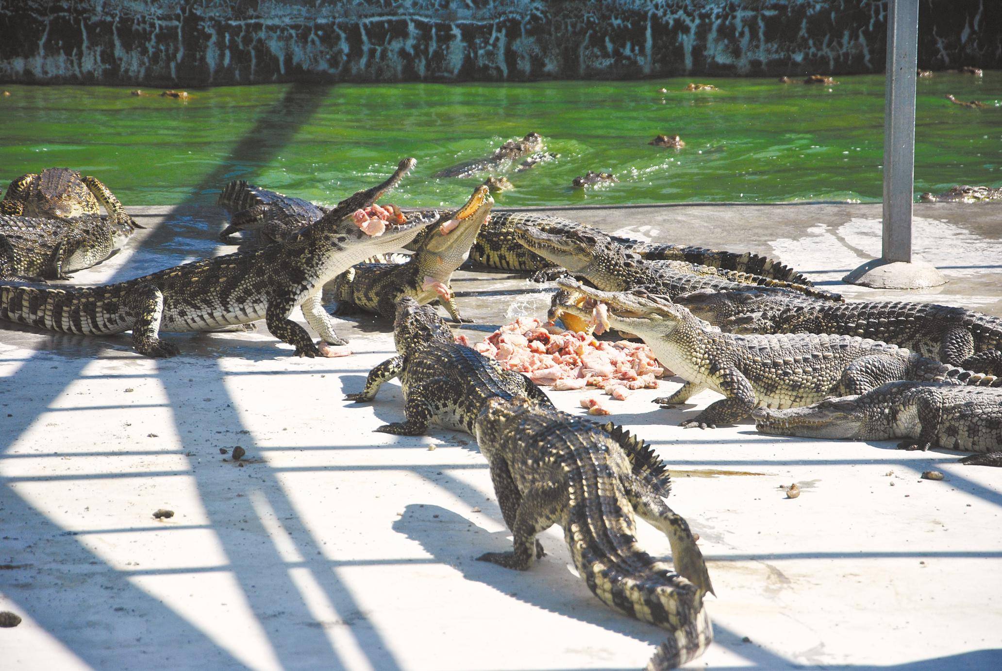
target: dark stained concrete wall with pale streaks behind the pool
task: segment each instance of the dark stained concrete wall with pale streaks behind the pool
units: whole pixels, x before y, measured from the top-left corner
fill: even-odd
[[[1002,0],[920,0],[923,67],[1002,67]],[[0,80],[208,85],[880,72],[875,0],[0,0]]]

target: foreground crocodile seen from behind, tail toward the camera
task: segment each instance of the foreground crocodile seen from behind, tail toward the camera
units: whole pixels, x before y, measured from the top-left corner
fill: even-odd
[[[491,399],[474,426],[511,552],[478,557],[526,571],[543,556],[536,536],[558,524],[577,573],[607,606],[670,632],[647,668],[674,668],[712,641],[703,599],[712,592],[685,520],[639,479],[619,445],[587,420],[527,399]],[[663,532],[674,571],[644,552],[634,514]]]

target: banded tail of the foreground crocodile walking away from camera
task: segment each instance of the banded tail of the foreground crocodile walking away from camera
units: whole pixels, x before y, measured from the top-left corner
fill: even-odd
[[[703,592],[644,552],[634,534],[622,485],[607,464],[597,477],[572,470],[573,490],[564,538],[578,574],[610,608],[670,632],[658,649],[656,669],[701,655],[712,641]]]

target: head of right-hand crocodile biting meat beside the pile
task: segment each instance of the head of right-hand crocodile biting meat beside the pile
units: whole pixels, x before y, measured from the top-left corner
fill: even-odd
[[[574,295],[590,298],[583,304],[574,302],[561,305],[561,309],[581,318],[590,319],[593,311],[599,305],[602,318],[608,321],[608,326],[616,330],[635,333],[644,341],[663,338],[669,334],[679,323],[693,319],[692,313],[681,305],[671,302],[664,295],[648,293],[643,289],[631,291],[601,291],[586,286],[568,277],[557,280],[561,288]]]

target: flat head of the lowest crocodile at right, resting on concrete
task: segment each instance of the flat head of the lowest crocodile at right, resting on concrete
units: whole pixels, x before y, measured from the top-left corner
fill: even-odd
[[[826,399],[804,408],[769,410],[761,408],[752,415],[756,429],[763,434],[800,436],[802,438],[866,439],[869,413],[860,396]]]

